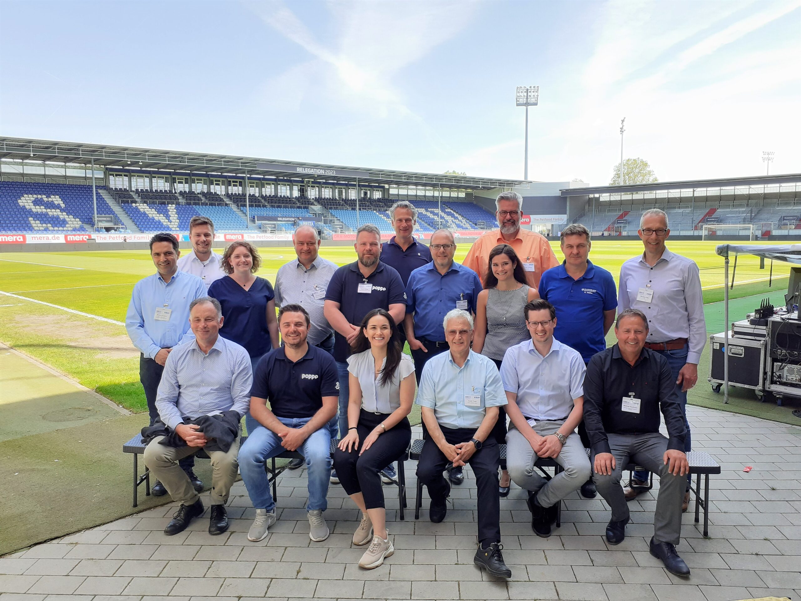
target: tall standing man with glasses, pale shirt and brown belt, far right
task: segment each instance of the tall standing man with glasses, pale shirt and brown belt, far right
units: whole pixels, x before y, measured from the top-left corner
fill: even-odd
[[[645,247],[641,256],[627,260],[620,268],[618,310],[638,309],[648,320],[646,349],[667,359],[676,383],[684,416],[689,451],[690,423],[687,422],[687,390],[698,381],[698,360],[706,344],[701,276],[694,260],[670,252],[665,241],[670,236],[667,215],[658,208],[642,213],[637,232]],[[626,489],[626,500],[645,492],[647,472],[636,472]],[[690,503],[690,475],[682,501],[682,511]]]

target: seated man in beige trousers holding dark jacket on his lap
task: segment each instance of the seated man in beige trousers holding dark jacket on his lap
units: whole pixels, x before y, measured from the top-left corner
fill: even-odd
[[[186,530],[203,515],[203,502],[179,461],[206,451],[211,458],[209,534],[228,529],[225,502],[236,479],[236,455],[242,434],[239,420],[248,412],[252,374],[248,351],[219,336],[223,310],[210,296],[192,300],[189,324],[195,341],[176,346],[167,355],[155,406],[163,426],[145,449],[148,470],[181,505],[164,534]],[[143,436],[145,432],[143,431]]]

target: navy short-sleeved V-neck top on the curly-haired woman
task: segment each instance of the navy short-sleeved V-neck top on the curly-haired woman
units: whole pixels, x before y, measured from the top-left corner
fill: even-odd
[[[219,300],[223,308],[223,327],[219,335],[244,346],[251,357],[260,357],[272,349],[267,328],[267,304],[276,297],[272,285],[257,277],[248,290],[231,276],[221,277],[208,287],[208,296]]]

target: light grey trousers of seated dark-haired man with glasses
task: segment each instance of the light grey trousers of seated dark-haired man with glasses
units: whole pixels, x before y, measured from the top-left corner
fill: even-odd
[[[565,422],[537,422],[534,432],[540,436],[553,434]],[[512,482],[525,490],[537,494],[537,502],[543,507],[556,505],[568,494],[582,487],[590,478],[590,461],[578,434],[571,432],[562,451],[553,459],[564,471],[546,480],[534,468],[537,454],[529,441],[513,425],[506,433],[506,469]]]

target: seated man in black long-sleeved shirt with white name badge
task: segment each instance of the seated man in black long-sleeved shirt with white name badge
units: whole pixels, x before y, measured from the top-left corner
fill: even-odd
[[[686,430],[674,378],[665,357],[645,346],[648,321],[638,309],[626,309],[614,326],[618,344],[590,359],[584,380],[584,422],[592,445],[594,480],[612,508],[606,540],[626,537],[629,508],[620,486],[630,461],[659,474],[650,553],[668,571],[690,575],[676,554],[682,529],[682,495],[690,467],[684,453]],[[668,438],[659,434],[659,412]]]

